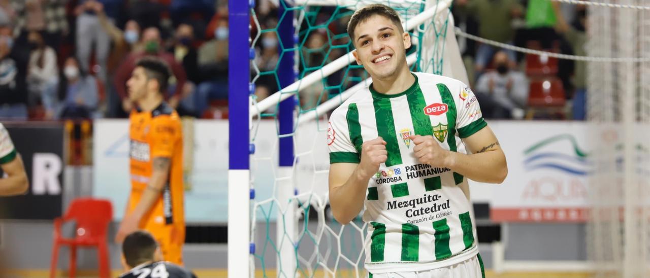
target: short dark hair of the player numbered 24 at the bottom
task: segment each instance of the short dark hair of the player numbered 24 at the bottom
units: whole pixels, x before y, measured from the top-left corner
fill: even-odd
[[[122,253],[126,263],[131,266],[138,266],[144,262],[154,259],[158,244],[153,236],[147,231],[135,231],[122,243]]]

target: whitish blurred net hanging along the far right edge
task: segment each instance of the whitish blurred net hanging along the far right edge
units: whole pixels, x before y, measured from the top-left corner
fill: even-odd
[[[588,256],[597,277],[650,277],[650,3],[599,2],[630,6],[588,6],[588,55],[623,59],[587,67]]]

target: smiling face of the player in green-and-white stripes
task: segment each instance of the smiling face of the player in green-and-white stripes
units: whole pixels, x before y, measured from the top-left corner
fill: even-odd
[[[385,79],[406,68],[406,49],[411,36],[391,19],[376,14],[354,29],[354,58],[373,79]]]

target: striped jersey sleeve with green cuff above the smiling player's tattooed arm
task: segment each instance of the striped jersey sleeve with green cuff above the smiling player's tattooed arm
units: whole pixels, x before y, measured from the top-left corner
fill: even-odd
[[[458,97],[458,115],[456,116],[456,129],[460,138],[467,138],[487,126],[483,120],[481,107],[476,95],[463,82],[460,82],[456,97]]]

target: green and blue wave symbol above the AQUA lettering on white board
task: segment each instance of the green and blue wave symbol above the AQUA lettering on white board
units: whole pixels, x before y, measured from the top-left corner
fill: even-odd
[[[569,153],[552,151],[553,145],[571,144]],[[549,151],[550,150],[550,151]],[[528,147],[524,151],[526,171],[554,170],[569,175],[588,175],[591,162],[589,154],[580,149],[577,140],[571,134],[560,134],[546,138]]]

